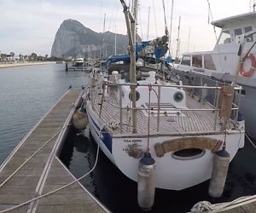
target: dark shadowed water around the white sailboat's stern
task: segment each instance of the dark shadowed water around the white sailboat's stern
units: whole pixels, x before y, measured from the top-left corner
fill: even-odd
[[[71,130],[61,153],[61,160],[79,178],[93,167],[96,148],[88,129],[84,132]],[[222,198],[212,199],[208,196],[209,181],[182,191],[157,189],[154,207],[149,212],[187,212],[202,200],[213,204],[252,195],[256,193],[256,170],[251,163],[255,159],[256,150],[246,140],[245,147],[230,164]],[[137,206],[137,183],[125,177],[102,152],[96,169],[82,180],[82,184],[113,212],[143,212]]]

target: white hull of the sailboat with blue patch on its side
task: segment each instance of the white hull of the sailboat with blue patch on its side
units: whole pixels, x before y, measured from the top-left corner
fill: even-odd
[[[112,137],[108,132],[102,130],[96,119],[94,112],[90,107],[87,107],[87,113],[90,121],[90,132],[93,135],[96,143],[100,144],[102,152],[112,161],[122,173],[133,181],[137,181],[137,167],[140,158],[132,157],[129,151],[145,152],[147,149],[147,137]],[[106,135],[107,134],[107,135]],[[100,136],[99,136],[100,135]],[[196,135],[197,137],[209,137],[209,135]],[[106,139],[108,137],[108,139]],[[237,140],[240,137],[240,140]],[[182,190],[187,187],[195,186],[203,181],[207,181],[212,174],[213,153],[211,150],[204,150],[204,153],[199,158],[178,159],[173,157],[174,152],[165,153],[159,158],[156,155],[154,146],[163,141],[177,140],[184,138],[180,136],[157,136],[150,137],[149,149],[151,156],[155,160],[155,185],[158,188],[170,190]],[[224,140],[224,135],[211,135],[212,139]],[[243,147],[243,135],[230,133],[226,137],[226,150],[230,153],[230,160],[234,158],[239,147]],[[136,144],[134,150],[129,150]],[[134,153],[133,153],[134,155]],[[136,154],[135,154],[136,155]]]

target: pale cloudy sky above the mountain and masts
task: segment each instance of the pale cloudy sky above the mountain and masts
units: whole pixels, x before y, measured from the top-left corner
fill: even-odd
[[[131,1],[131,0],[130,0]],[[129,3],[129,0],[126,0]],[[181,17],[181,52],[210,50],[215,43],[213,28],[208,25],[207,0],[174,0],[172,20],[172,54],[176,55],[177,26]],[[162,0],[140,0],[138,33],[149,39],[164,34]],[[252,11],[253,0],[209,0],[214,20]],[[172,0],[165,0],[166,21],[170,28]],[[119,0],[0,0],[0,52],[26,55],[32,52],[49,55],[61,22],[79,20],[95,32],[126,33]],[[189,38],[190,29],[190,38]]]

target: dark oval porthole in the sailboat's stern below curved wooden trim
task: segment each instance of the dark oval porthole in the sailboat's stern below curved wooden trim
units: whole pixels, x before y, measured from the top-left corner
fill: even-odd
[[[191,160],[201,158],[205,153],[206,151],[200,148],[187,148],[172,153],[172,158],[180,160]]]

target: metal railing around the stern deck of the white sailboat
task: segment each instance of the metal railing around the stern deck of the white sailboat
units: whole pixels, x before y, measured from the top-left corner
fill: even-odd
[[[118,104],[115,104],[113,102],[108,102],[108,104],[110,104],[111,106],[113,107],[116,107],[119,109],[119,133],[122,134],[123,131],[124,131],[124,126],[129,126],[130,124],[125,124],[124,122],[124,110],[126,111],[131,111],[131,110],[136,110],[136,111],[139,111],[139,110],[148,110],[147,108],[145,107],[122,107],[122,102],[123,102],[123,91],[122,91],[122,86],[127,86],[127,87],[130,87],[130,86],[139,86],[139,87],[148,87],[148,84],[143,84],[143,83],[117,83],[117,82],[112,82],[112,81],[109,81],[109,80],[104,80],[104,81],[98,81],[98,78],[94,78],[94,80],[91,81],[91,83],[95,83],[95,86],[93,86],[94,88],[104,88],[106,87],[106,89],[102,89],[104,90],[102,92],[102,101],[101,101],[101,107],[103,107],[103,105],[105,104],[103,101],[104,99],[104,92],[109,90],[109,88],[113,88],[115,87],[115,91],[116,91],[116,94],[118,95],[119,97],[119,105]],[[99,84],[100,83],[100,84]],[[103,83],[103,85],[102,85]],[[93,85],[93,84],[92,84]],[[214,119],[212,120],[213,122],[213,125],[212,125],[212,130],[213,131],[217,131],[217,124],[218,124],[218,114],[219,112],[221,111],[221,107],[220,107],[220,104],[221,104],[221,95],[222,95],[222,92],[221,90],[223,89],[223,87],[220,87],[220,86],[191,86],[191,85],[172,85],[172,84],[152,84],[151,85],[156,91],[157,91],[157,114],[156,114],[156,132],[159,132],[160,131],[160,116],[162,116],[163,114],[166,115],[165,113],[163,113],[161,111],[161,108],[160,108],[160,100],[161,100],[161,89],[164,88],[164,87],[171,87],[171,88],[177,88],[177,89],[183,89],[183,90],[193,90],[193,89],[212,89],[212,90],[215,90],[216,92],[214,92],[214,100],[212,101],[213,104],[210,104],[209,102],[205,102],[204,106],[205,107],[202,107],[202,108],[175,108],[174,110],[175,111],[180,111],[180,112],[198,112],[198,111],[201,111],[201,112],[206,112],[206,111],[210,111],[210,112],[214,112],[215,115],[214,115]],[[237,118],[238,118],[238,112],[239,112],[239,107],[240,107],[240,102],[241,102],[241,86],[236,86],[234,88],[234,94],[232,95],[232,103],[231,103],[231,109],[230,111],[232,112],[232,116],[233,118],[232,119],[228,119],[229,122],[231,121],[233,124],[234,124],[234,128],[236,129],[237,128]],[[92,101],[92,108],[95,107],[95,99],[94,99],[94,92],[93,92],[94,89],[91,89],[90,90],[90,96],[91,96],[91,101]],[[186,94],[188,95],[188,94]],[[195,94],[196,97],[199,97],[199,95]],[[201,101],[201,98],[199,97],[200,101]],[[203,104],[202,104],[203,106]],[[207,107],[206,107],[207,106]],[[172,110],[170,110],[172,111]],[[155,114],[154,114],[155,116]],[[229,116],[230,118],[230,116]]]

